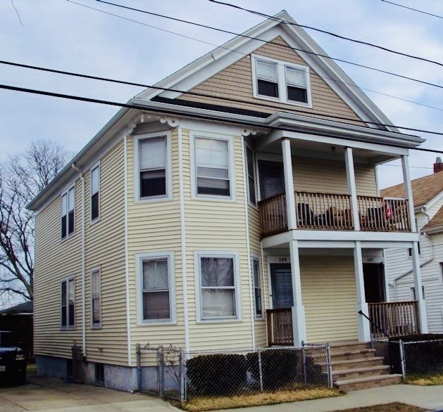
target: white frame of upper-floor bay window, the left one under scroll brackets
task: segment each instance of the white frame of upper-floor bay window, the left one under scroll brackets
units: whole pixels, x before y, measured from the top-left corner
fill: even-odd
[[[166,195],[140,197],[140,164],[139,164],[139,141],[166,137]],[[170,131],[158,131],[156,133],[140,134],[134,138],[134,195],[135,202],[164,202],[173,199],[173,167],[171,153]]]

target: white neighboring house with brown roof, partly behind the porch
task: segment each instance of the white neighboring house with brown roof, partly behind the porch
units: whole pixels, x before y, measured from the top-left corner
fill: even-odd
[[[430,333],[443,333],[443,162],[434,164],[434,173],[414,179],[413,202],[420,231],[420,271],[423,280]],[[385,197],[404,196],[401,185],[380,191]],[[385,269],[391,301],[416,300],[411,251],[387,249]]]

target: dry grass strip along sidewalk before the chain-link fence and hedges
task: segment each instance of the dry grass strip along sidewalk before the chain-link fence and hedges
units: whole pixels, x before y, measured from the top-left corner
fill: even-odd
[[[182,404],[180,404],[180,402],[174,402],[174,405],[185,411],[199,412],[307,401],[309,399],[338,397],[342,394],[342,392],[339,392],[339,390],[336,389],[316,387],[303,390],[260,392],[257,394],[245,394],[233,397],[196,397],[194,399],[189,399],[189,401],[183,402]]]

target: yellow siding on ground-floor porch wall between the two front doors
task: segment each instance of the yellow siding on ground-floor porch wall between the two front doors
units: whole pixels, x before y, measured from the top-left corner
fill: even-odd
[[[300,269],[308,342],[357,340],[353,257],[301,256]]]

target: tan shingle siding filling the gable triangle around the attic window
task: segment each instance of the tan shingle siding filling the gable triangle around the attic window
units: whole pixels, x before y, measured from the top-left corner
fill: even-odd
[[[266,56],[269,58],[275,58],[277,60],[286,61],[289,63],[296,63],[299,65],[307,65],[307,63],[295,52],[285,47],[277,46],[286,45],[287,43],[281,38],[277,37],[273,40],[272,44],[265,44],[254,51],[254,54]],[[183,95],[181,99],[187,101],[197,101],[201,103],[212,103],[216,105],[229,105],[230,107],[239,109],[249,109],[259,112],[273,113],[278,110],[285,110],[297,112],[301,115],[306,114],[314,117],[325,117],[325,113],[328,115],[335,115],[340,117],[347,117],[350,120],[337,120],[329,118],[329,120],[335,120],[338,122],[364,125],[359,120],[356,113],[344,103],[335,91],[330,89],[330,86],[321,79],[317,73],[310,68],[311,73],[311,94],[313,101],[313,108],[304,108],[297,105],[288,105],[285,103],[278,103],[273,101],[267,101],[253,97],[252,93],[252,72],[251,72],[251,56],[246,56],[237,61],[230,67],[225,68],[218,74],[214,75],[210,79],[205,80],[198,86],[192,89],[192,92],[201,94],[209,94],[211,96],[218,96],[222,98],[206,98],[199,96]],[[236,98],[242,101],[250,102],[250,104],[234,103],[223,101],[223,98]],[[256,103],[263,103],[266,105],[272,105],[275,108],[266,108]]]

